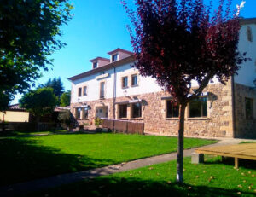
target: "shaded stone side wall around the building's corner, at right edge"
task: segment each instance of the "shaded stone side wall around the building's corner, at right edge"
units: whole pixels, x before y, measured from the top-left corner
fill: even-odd
[[[246,119],[245,98],[253,99],[253,119]],[[235,84],[235,137],[256,138],[256,90]]]

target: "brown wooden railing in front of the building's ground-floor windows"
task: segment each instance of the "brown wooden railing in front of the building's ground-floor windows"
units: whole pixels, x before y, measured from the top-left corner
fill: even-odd
[[[144,123],[135,123],[117,119],[102,119],[102,127],[118,133],[144,134]]]

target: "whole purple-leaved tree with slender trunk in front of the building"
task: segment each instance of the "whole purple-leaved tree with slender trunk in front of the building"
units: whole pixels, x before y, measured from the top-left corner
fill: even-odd
[[[247,60],[237,51],[239,19],[230,11],[231,0],[220,0],[214,12],[202,0],[135,2],[136,10],[122,2],[134,26],[134,32],[129,27],[134,67],[143,76],[156,78],[179,103],[177,182],[183,183],[185,108],[214,76],[225,84]],[[195,90],[193,80],[198,83]]]

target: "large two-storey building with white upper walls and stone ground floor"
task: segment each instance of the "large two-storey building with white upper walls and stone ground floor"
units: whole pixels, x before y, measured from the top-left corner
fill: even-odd
[[[241,19],[239,50],[252,61],[227,85],[213,80],[200,99],[186,109],[186,136],[256,136],[256,19]],[[95,117],[144,122],[146,132],[177,135],[177,106],[154,78],[132,67],[130,51],[115,49],[97,57],[92,69],[72,82],[71,111],[79,122]],[[196,83],[194,83],[196,86]]]

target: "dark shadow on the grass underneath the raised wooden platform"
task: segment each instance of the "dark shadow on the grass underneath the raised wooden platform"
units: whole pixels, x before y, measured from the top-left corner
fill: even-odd
[[[224,165],[235,165],[235,159],[226,157],[224,160],[219,159],[220,156],[216,157],[217,159],[212,160],[205,160],[205,165],[212,165],[212,164],[224,164]],[[256,160],[249,160],[249,159],[239,159],[239,166],[244,167],[247,169],[255,169],[256,166]]]

